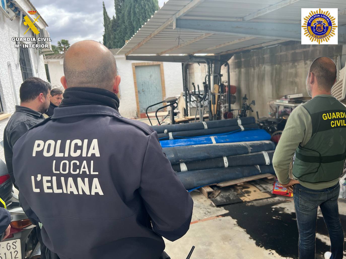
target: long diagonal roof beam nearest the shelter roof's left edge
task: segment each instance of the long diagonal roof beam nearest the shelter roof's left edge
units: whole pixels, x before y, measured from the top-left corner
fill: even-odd
[[[191,10],[192,8],[196,7],[198,4],[203,2],[204,0],[192,0],[189,4],[187,4],[184,8],[182,8],[179,12],[177,12],[175,15],[173,15],[170,19],[168,19],[166,22],[163,23],[160,27],[158,27],[154,32],[150,33],[149,36],[147,36],[144,40],[139,42],[134,48],[130,49],[125,56],[131,54],[135,50],[139,49],[142,47],[146,42],[154,38],[158,33],[166,29],[172,22],[175,21],[176,18],[179,18],[183,16],[186,12]]]

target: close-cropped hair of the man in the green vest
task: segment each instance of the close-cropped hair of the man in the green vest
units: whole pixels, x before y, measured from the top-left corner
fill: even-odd
[[[330,58],[316,58],[310,66],[309,75],[311,72],[315,75],[319,87],[329,91],[334,85],[336,78],[336,65]]]

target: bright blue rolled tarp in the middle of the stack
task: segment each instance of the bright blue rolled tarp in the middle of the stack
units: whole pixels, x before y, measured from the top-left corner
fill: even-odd
[[[181,138],[178,140],[162,140],[160,144],[162,147],[174,146],[189,146],[189,145],[203,145],[215,143],[231,143],[231,142],[248,142],[248,141],[261,141],[270,140],[271,136],[265,130],[249,130],[239,131],[222,136],[200,136],[194,138]]]

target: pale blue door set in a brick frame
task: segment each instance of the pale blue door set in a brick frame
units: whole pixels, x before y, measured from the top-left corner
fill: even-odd
[[[140,113],[154,103],[162,102],[160,65],[136,66],[136,80]],[[148,111],[156,111],[161,105],[151,107]]]

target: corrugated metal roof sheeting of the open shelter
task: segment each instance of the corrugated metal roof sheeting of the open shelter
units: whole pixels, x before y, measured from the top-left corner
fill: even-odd
[[[140,28],[129,42],[117,53],[129,55],[147,54],[169,54],[186,55],[197,53],[218,54],[220,52],[237,50],[239,48],[250,47],[266,42],[280,40],[268,37],[253,37],[248,39],[246,36],[223,35],[213,33],[204,35],[205,32],[184,31],[183,29],[173,29],[173,22],[160,31],[157,35],[150,38],[142,46],[138,46],[143,40],[156,34],[156,30],[172,18],[177,12],[184,11],[188,4],[199,2],[191,9],[186,11],[183,19],[199,20],[221,20],[221,21],[251,21],[251,22],[270,22],[270,23],[293,23],[300,24],[301,8],[316,6],[326,8],[338,8],[338,25],[346,24],[346,1],[330,0],[328,3],[317,4],[316,1],[306,0],[169,0],[158,10],[148,22]],[[286,4],[286,5],[285,5]],[[275,6],[273,6],[275,5]],[[278,6],[278,8],[273,8]],[[322,6],[323,5],[323,6]],[[280,7],[280,8],[279,8]],[[260,10],[272,8],[274,10],[263,12],[258,15]],[[183,10],[182,10],[183,9]],[[261,13],[260,13],[261,14]],[[283,28],[284,30],[284,28]],[[204,35],[204,36],[203,36]],[[200,37],[198,41],[194,39]],[[232,42],[234,41],[234,42]],[[189,43],[191,42],[191,44]],[[229,43],[229,45],[227,45]],[[231,44],[232,43],[232,44]],[[268,43],[269,44],[269,43]],[[178,45],[181,45],[179,48]],[[219,47],[217,47],[219,46]],[[136,48],[135,48],[136,47]],[[166,52],[169,50],[168,52]],[[128,53],[128,52],[131,53]]]

